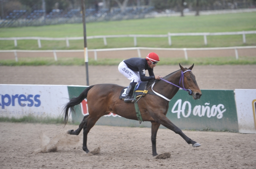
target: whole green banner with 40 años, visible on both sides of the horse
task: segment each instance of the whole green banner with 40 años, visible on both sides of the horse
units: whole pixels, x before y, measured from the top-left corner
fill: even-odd
[[[69,98],[78,97],[85,86],[68,86]],[[238,131],[236,104],[233,90],[201,90],[201,99],[194,100],[188,92],[179,90],[169,102],[167,118],[180,129],[214,129]],[[143,99],[143,98],[141,98]],[[72,113],[73,123],[80,123],[88,114],[87,100],[76,106]],[[125,119],[110,113],[101,117],[96,125],[151,127],[148,121]],[[160,126],[160,128],[165,128]]]

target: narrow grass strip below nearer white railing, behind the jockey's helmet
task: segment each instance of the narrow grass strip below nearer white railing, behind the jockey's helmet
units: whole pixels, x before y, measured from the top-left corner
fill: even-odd
[[[123,59],[103,59],[95,61],[89,58],[89,65],[118,65]],[[157,65],[224,65],[224,64],[256,64],[256,57],[240,56],[238,60],[235,57],[205,57],[205,58],[161,58]],[[13,60],[0,60],[0,66],[40,66],[40,65],[84,65],[84,59],[80,58],[59,58],[54,61],[53,58],[20,58],[19,62]]]

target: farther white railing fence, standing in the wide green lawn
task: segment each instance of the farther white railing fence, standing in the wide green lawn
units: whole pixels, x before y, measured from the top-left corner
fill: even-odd
[[[216,33],[167,33],[163,35],[99,35],[99,36],[87,36],[87,39],[99,39],[102,38],[104,45],[107,46],[107,38],[126,38],[131,37],[134,41],[134,46],[137,46],[137,38],[167,38],[168,43],[172,45],[172,36],[204,36],[204,44],[207,45],[207,36],[216,35],[243,35],[243,43],[246,43],[246,34],[256,34],[256,31],[240,31],[240,32],[216,32]],[[65,40],[66,46],[69,47],[69,40],[83,40],[84,37],[66,37],[66,38],[44,38],[44,37],[12,37],[12,38],[0,38],[0,40],[14,40],[14,46],[17,47],[17,40],[37,40],[38,48],[42,48],[41,40]]]

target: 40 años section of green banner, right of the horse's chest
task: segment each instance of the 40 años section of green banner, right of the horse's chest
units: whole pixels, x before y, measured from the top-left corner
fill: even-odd
[[[169,102],[167,117],[180,129],[238,131],[233,90],[201,90],[200,99],[179,92]]]

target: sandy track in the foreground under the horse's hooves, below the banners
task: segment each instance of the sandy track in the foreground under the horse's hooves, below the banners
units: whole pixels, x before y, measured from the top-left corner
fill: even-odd
[[[158,154],[152,157],[150,128],[94,126],[88,134],[89,150],[82,150],[82,133],[65,134],[76,126],[0,123],[0,168],[246,168],[256,166],[255,134],[184,131],[202,146],[193,148],[168,129],[157,133]],[[48,143],[50,141],[50,143]],[[44,146],[47,145],[47,146]],[[47,149],[56,152],[42,153]],[[56,150],[57,149],[57,150]]]

